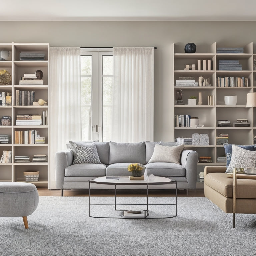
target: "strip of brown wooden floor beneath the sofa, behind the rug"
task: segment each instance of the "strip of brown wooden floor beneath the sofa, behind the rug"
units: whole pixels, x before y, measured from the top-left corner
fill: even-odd
[[[39,196],[61,196],[60,190],[49,190],[48,188],[38,187]],[[95,189],[91,190],[91,196],[114,196],[114,190]],[[146,190],[118,190],[118,196],[145,196]],[[64,196],[89,196],[88,189],[66,189],[64,190]],[[175,190],[149,190],[149,196],[175,196]],[[178,197],[204,197],[204,189],[188,189],[177,190]]]

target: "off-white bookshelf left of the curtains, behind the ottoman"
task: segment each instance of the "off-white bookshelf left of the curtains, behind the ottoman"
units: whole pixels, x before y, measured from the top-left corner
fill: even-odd
[[[15,125],[17,114],[42,114],[43,110],[48,111],[48,73],[49,73],[49,44],[48,43],[7,43],[0,44],[0,51],[7,50],[12,54],[10,61],[0,61],[0,69],[5,69],[11,74],[11,82],[8,85],[0,85],[0,91],[12,93],[11,106],[0,106],[0,118],[2,116],[11,116],[11,126],[1,126],[0,134],[8,134],[9,144],[0,144],[0,156],[3,150],[12,151],[12,162],[1,163],[0,180],[25,182],[24,171],[40,171],[39,181],[31,182],[37,186],[48,186],[48,162],[32,162],[34,154],[46,154],[49,156],[48,148],[48,125]],[[45,60],[19,60],[21,51],[33,51],[45,54]],[[33,74],[36,70],[43,72],[43,85],[19,85],[20,78],[24,73]],[[16,90],[36,91],[36,100],[44,99],[46,106],[16,106]],[[49,111],[48,111],[49,117]],[[49,118],[48,118],[49,120]],[[45,137],[45,144],[15,144],[15,131],[37,130],[41,137]],[[29,156],[28,163],[14,162],[14,156]]]

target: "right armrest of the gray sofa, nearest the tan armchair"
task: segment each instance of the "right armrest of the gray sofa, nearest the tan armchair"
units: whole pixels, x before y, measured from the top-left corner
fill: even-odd
[[[194,150],[183,150],[181,153],[181,165],[186,168],[189,188],[196,188],[197,158],[197,152]]]

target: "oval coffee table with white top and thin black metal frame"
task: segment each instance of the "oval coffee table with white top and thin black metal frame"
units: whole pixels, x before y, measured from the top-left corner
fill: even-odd
[[[115,204],[91,204],[91,183],[96,183],[96,184],[104,184],[104,185],[113,185],[115,186]],[[148,190],[150,185],[164,185],[164,184],[175,184],[175,204],[149,204],[148,203]],[[147,204],[116,204],[116,186],[118,185],[144,185],[146,186],[147,189]],[[165,219],[165,218],[173,218],[177,216],[177,182],[176,180],[172,180],[166,177],[160,177],[156,176],[155,179],[151,180],[149,177],[145,177],[144,180],[130,180],[129,176],[120,176],[119,179],[107,179],[106,176],[103,177],[98,177],[93,180],[89,180],[89,217],[94,217],[94,218],[111,218],[111,219],[118,219],[118,218],[124,218],[124,217],[96,217],[91,215],[91,206],[92,205],[114,205],[115,206],[115,211],[122,211],[118,210],[116,206],[121,206],[121,205],[146,205],[147,209],[145,211],[145,215],[143,218],[148,218],[148,219]],[[150,217],[149,216],[149,205],[175,205],[175,215],[174,216],[167,216],[167,217]],[[149,216],[149,217],[148,217]],[[140,217],[141,218],[141,217]]]

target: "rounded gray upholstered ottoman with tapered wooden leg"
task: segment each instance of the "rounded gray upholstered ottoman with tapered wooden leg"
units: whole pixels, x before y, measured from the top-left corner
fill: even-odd
[[[38,205],[36,186],[25,182],[0,182],[0,217],[21,217],[28,228],[27,216]]]

